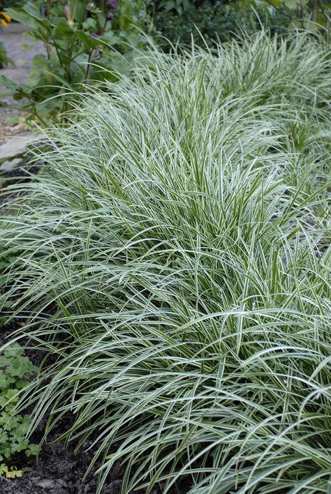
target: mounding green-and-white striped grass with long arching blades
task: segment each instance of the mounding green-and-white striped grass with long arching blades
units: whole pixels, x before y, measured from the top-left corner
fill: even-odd
[[[119,459],[124,493],[327,491],[330,76],[301,35],[151,52],[16,186],[8,296],[58,355],[24,403],[98,492]]]

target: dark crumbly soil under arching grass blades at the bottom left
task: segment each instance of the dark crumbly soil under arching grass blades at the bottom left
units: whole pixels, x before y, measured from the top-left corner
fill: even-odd
[[[22,320],[13,320],[10,324],[0,328],[0,348],[10,340],[14,331],[24,325]],[[41,350],[34,350],[31,342],[26,338],[20,340],[20,345],[29,347],[24,353],[38,365],[43,359]],[[45,421],[41,421],[38,429],[31,437],[31,442],[40,442],[43,437]],[[86,440],[79,451],[75,452],[77,442],[69,443],[65,447],[64,442],[55,442],[57,438],[73,424],[73,415],[66,414],[57,424],[56,428],[50,431],[47,442],[43,443],[41,453],[36,458],[27,458],[24,454],[17,456],[11,462],[18,470],[22,470],[22,477],[17,479],[6,479],[0,476],[1,494],[94,494],[96,493],[97,478],[94,472],[101,465],[96,462],[94,470],[87,479],[82,480],[87,467],[91,462],[93,452],[96,448],[91,448],[92,440]],[[112,450],[116,451],[117,444]],[[120,494],[122,481],[124,478],[124,467],[117,462],[108,476],[107,482],[103,486],[103,494]],[[185,494],[189,491],[189,484],[182,484],[170,491],[170,494]],[[162,486],[156,486],[151,494],[163,493]],[[145,494],[145,491],[135,491],[135,494]]]

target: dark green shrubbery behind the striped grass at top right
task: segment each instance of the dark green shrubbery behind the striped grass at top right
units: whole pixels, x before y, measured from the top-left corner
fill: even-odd
[[[226,41],[233,36],[249,34],[261,27],[270,33],[286,35],[293,29],[320,31],[330,43],[331,3],[291,0],[154,0],[149,11],[159,32],[170,43],[195,43],[203,45],[201,36],[212,45],[217,39]],[[169,50],[168,43],[163,49]]]

